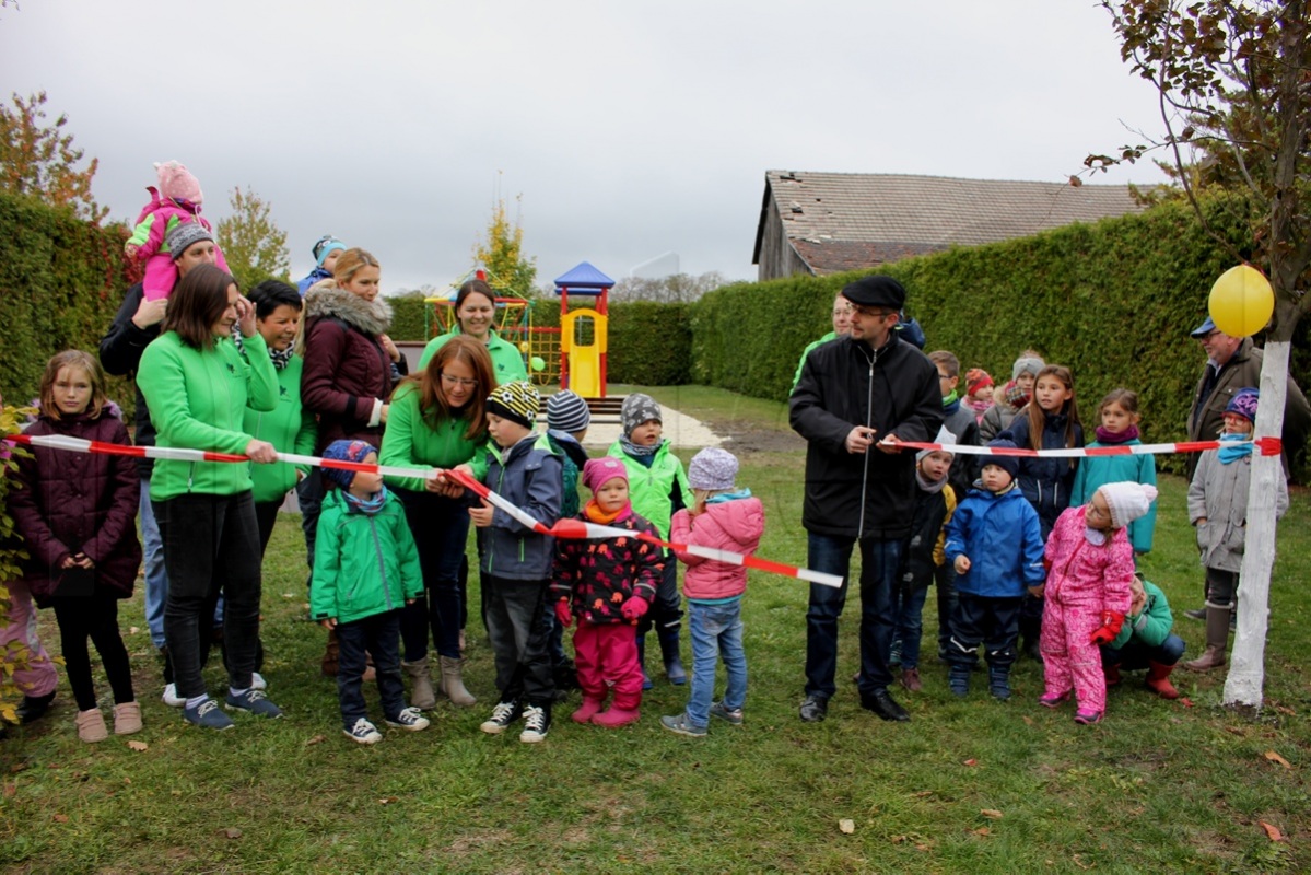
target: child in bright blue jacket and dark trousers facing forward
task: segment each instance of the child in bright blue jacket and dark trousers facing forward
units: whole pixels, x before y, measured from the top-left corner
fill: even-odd
[[[1004,439],[988,446],[1016,449]],[[956,569],[958,596],[947,648],[948,686],[956,695],[969,694],[970,668],[982,645],[988,666],[988,691],[998,699],[1008,699],[1015,639],[1020,632],[1020,603],[1025,592],[1041,594],[1046,571],[1038,513],[1015,484],[1020,459],[1013,455],[986,458],[974,488],[956,506],[947,525],[947,561]]]

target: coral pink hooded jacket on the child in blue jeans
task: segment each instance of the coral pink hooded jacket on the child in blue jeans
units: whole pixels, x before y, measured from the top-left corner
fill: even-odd
[[[739,499],[712,500],[705,505],[705,513],[695,519],[687,510],[679,510],[674,514],[670,540],[751,555],[760,546],[762,534],[764,534],[764,505],[747,492]],[[674,552],[687,565],[683,594],[690,601],[718,601],[746,592],[746,565],[694,556],[682,550]]]

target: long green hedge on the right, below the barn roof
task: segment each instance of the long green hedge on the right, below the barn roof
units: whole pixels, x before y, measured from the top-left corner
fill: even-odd
[[[1218,231],[1240,251],[1245,231]],[[1188,333],[1206,317],[1206,296],[1232,256],[1190,207],[1167,203],[1141,215],[1074,224],[1032,237],[898,261],[880,273],[909,291],[926,352],[949,349],[962,367],[1009,378],[1025,348],[1071,367],[1086,425],[1106,391],[1124,386],[1143,404],[1147,441],[1181,439],[1202,369]],[[797,358],[829,331],[832,298],[868,272],[739,283],[705,295],[692,315],[696,383],[759,397],[788,395]],[[1294,340],[1293,374],[1311,388],[1308,327]],[[1260,338],[1257,338],[1260,341]],[[1091,430],[1091,428],[1089,428]],[[1163,467],[1181,466],[1163,457]]]

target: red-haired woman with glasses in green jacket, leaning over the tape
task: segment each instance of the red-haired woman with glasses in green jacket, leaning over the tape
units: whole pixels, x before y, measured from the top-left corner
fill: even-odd
[[[427,471],[471,460],[486,442],[485,403],[496,386],[488,348],[473,337],[451,337],[422,371],[396,388],[379,464]],[[464,597],[459,572],[469,531],[464,489],[422,475],[388,476],[387,484],[405,504],[423,569],[425,594],[401,615],[401,666],[413,682],[410,704],[429,710],[437,703],[427,659],[431,627],[442,693],[452,704],[468,707],[476,699],[464,689],[460,666]]]

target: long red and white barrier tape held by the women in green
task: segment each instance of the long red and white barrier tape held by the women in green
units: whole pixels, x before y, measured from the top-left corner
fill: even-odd
[[[12,434],[4,438],[5,441],[13,441],[14,443],[24,443],[28,446],[45,446],[56,450],[68,450],[71,453],[98,453],[104,455],[127,455],[135,458],[146,459],[174,459],[180,462],[249,462],[250,457],[236,455],[231,453],[210,453],[207,450],[185,450],[180,447],[165,447],[165,446],[125,446],[122,443],[105,443],[102,441],[87,441],[84,438],[71,438],[59,434],[41,434],[41,436],[28,436],[28,434]],[[401,468],[395,466],[383,464],[364,464],[363,462],[342,462],[338,459],[323,459],[315,455],[299,455],[295,453],[279,453],[278,462],[286,462],[288,464],[308,464],[321,468],[340,468],[342,471],[366,471],[378,472],[384,476],[397,476],[397,478],[426,478],[438,471],[438,468]],[[838,575],[829,575],[821,571],[812,571],[809,568],[798,568],[796,565],[787,565],[783,563],[770,561],[768,559],[760,559],[758,556],[745,556],[742,554],[729,552],[726,550],[714,550],[711,547],[700,547],[696,544],[679,544],[669,540],[661,540],[654,535],[649,534],[635,534],[628,529],[614,529],[610,526],[599,526],[593,522],[585,522],[582,519],[560,519],[553,526],[545,526],[539,519],[524,512],[522,508],[506,501],[502,496],[492,492],[485,485],[467,476],[460,471],[446,471],[446,475],[468,489],[472,489],[476,495],[486,499],[497,508],[501,508],[507,514],[519,521],[523,526],[532,529],[534,531],[551,535],[553,538],[640,538],[641,540],[648,540],[653,544],[661,547],[670,547],[673,550],[680,550],[683,552],[692,554],[694,556],[704,556],[705,559],[713,559],[716,561],[728,563],[730,565],[746,565],[747,568],[756,568],[759,571],[767,571],[773,575],[783,575],[785,577],[796,577],[798,580],[806,580],[814,584],[822,584],[825,586],[842,586],[842,577]]]

